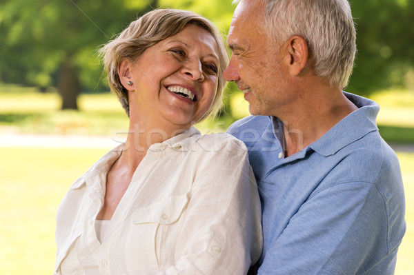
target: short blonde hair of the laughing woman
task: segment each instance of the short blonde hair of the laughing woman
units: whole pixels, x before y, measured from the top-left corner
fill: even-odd
[[[144,14],[139,19],[132,21],[128,28],[122,31],[118,37],[109,41],[99,50],[103,59],[103,65],[108,73],[110,90],[118,96],[122,107],[129,116],[128,90],[121,84],[118,75],[118,67],[124,59],[137,61],[147,48],[159,41],[172,37],[184,30],[188,25],[195,25],[210,32],[217,43],[219,55],[219,70],[217,92],[213,105],[203,116],[215,116],[222,105],[222,94],[226,81],[223,72],[228,65],[228,52],[221,33],[214,24],[201,17],[201,15],[187,10],[157,9]]]

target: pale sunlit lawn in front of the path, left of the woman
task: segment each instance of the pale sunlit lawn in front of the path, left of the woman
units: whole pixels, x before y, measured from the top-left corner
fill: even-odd
[[[0,147],[0,274],[52,274],[55,214],[106,150]]]

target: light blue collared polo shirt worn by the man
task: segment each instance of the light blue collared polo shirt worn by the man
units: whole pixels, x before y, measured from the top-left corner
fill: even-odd
[[[262,200],[258,274],[394,272],[406,229],[400,165],[378,133],[379,105],[344,94],[358,110],[286,158],[279,119],[248,116],[228,129],[248,147]]]

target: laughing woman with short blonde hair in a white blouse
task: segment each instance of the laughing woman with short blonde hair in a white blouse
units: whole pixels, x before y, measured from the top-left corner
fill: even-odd
[[[221,105],[221,34],[193,12],[153,10],[101,54],[129,134],[63,198],[56,274],[246,274],[262,251],[246,147],[193,128]]]

